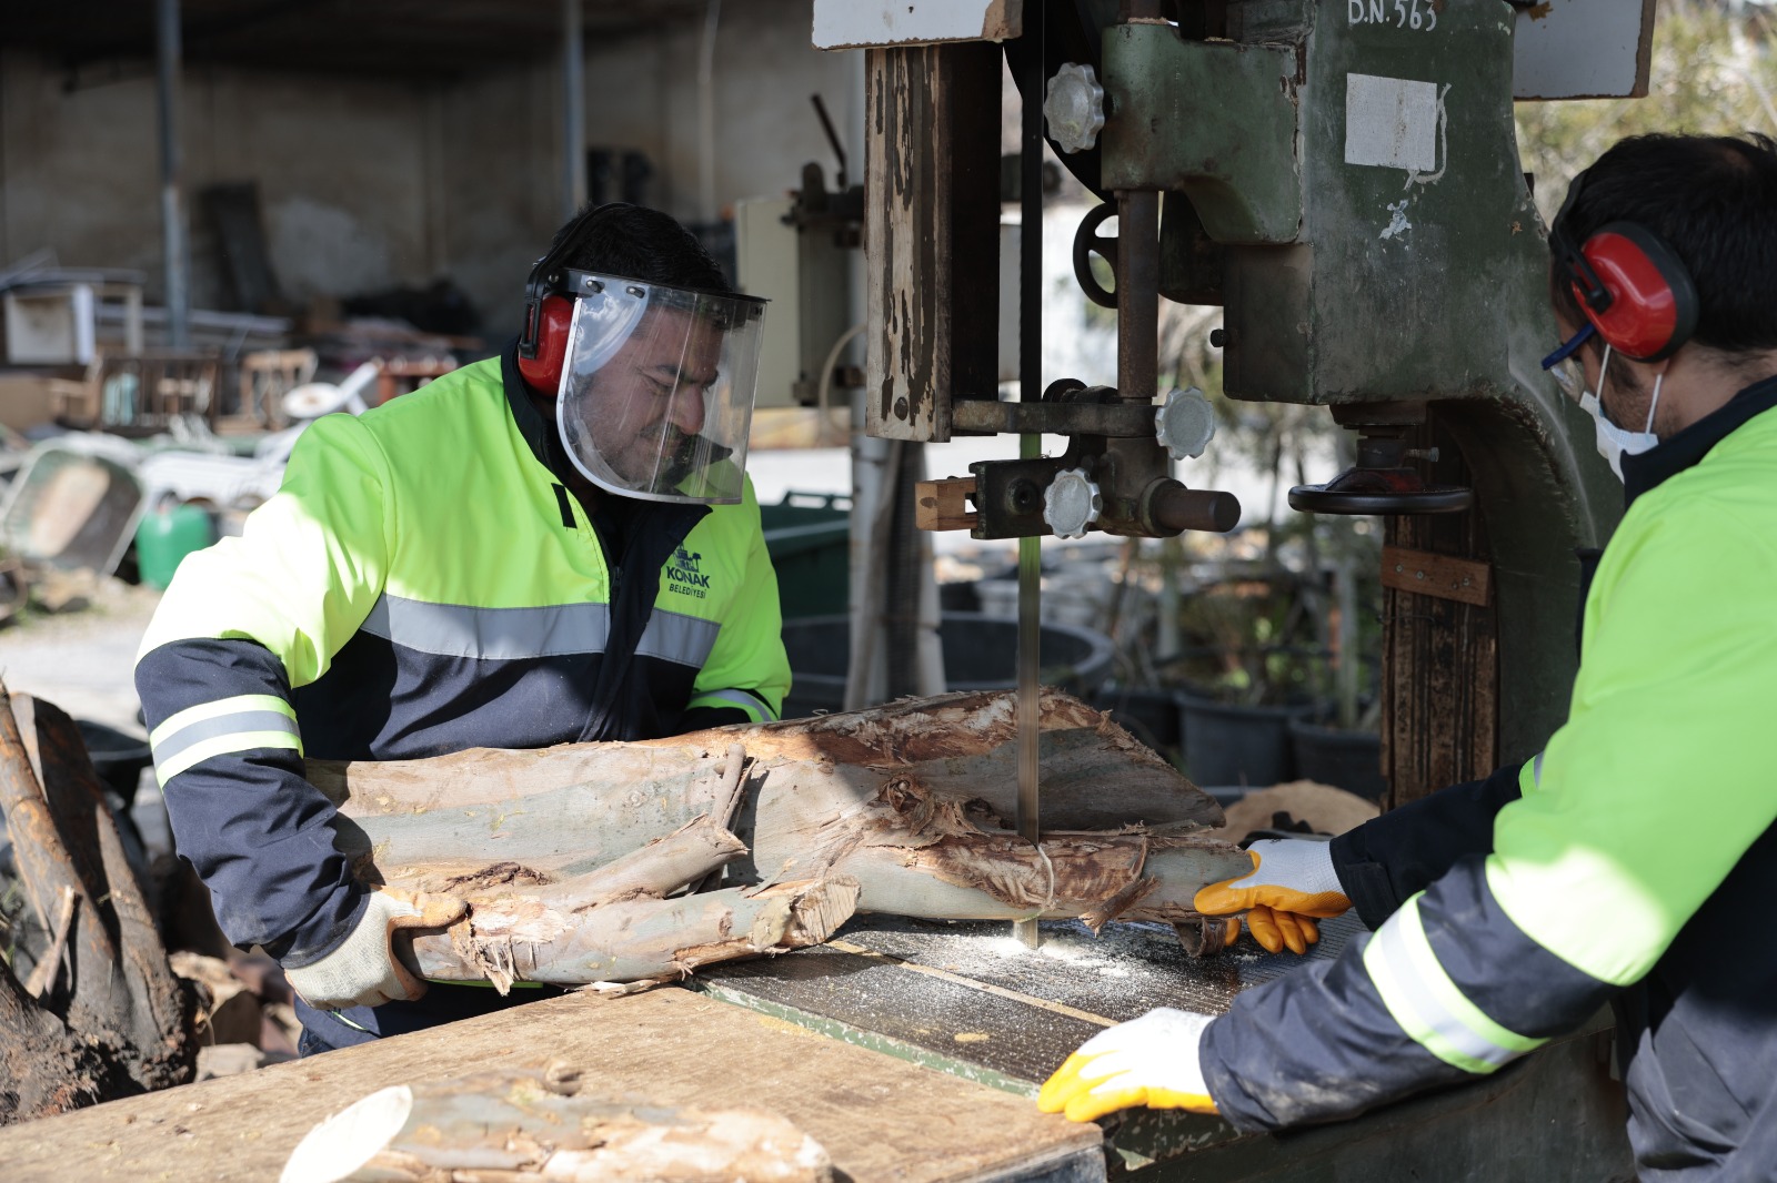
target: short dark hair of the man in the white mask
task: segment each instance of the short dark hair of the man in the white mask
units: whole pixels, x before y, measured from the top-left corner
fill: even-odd
[[[1644,226],[1697,284],[1695,341],[1727,353],[1777,348],[1777,142],[1750,131],[1635,135],[1583,176],[1562,224],[1574,243],[1606,222]],[[1562,316],[1585,323],[1573,288],[1551,288]]]

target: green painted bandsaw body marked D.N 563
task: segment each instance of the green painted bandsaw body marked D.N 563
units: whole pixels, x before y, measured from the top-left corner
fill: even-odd
[[[1102,53],[1104,188],[1167,192],[1160,290],[1221,297],[1226,393],[1347,426],[1430,407],[1459,444],[1496,572],[1496,757],[1534,755],[1567,711],[1574,551],[1622,492],[1537,364],[1557,330],[1512,7],[1239,0],[1226,41],[1120,23]]]

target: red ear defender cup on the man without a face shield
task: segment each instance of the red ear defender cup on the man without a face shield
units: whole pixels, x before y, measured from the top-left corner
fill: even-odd
[[[1590,275],[1574,275],[1569,266],[1573,291],[1610,348],[1649,362],[1670,357],[1690,339],[1697,286],[1656,234],[1635,222],[1610,222],[1585,240],[1580,254]]]

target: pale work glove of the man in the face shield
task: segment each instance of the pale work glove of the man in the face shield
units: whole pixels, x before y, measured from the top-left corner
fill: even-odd
[[[402,963],[394,934],[403,929],[448,929],[467,911],[469,906],[455,895],[371,892],[345,943],[313,965],[284,966],[284,977],[316,1011],[412,1002],[426,993],[426,982]]]

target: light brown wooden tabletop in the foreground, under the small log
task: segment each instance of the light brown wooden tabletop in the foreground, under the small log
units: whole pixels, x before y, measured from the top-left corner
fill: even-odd
[[[0,1130],[0,1162],[9,1183],[274,1179],[315,1123],[377,1089],[549,1057],[613,1100],[773,1108],[855,1183],[1018,1178],[1096,1156],[1100,1144],[1098,1126],[1040,1114],[1027,1098],[663,988],[549,998],[27,1123]]]

